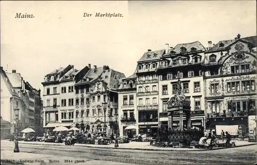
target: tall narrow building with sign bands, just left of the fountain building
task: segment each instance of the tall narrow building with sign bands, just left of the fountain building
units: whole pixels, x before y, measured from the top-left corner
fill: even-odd
[[[148,50],[137,62],[137,113],[141,134],[153,136],[159,126],[159,86],[156,69],[165,50]]]

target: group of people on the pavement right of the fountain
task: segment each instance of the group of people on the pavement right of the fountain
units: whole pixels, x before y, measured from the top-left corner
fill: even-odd
[[[230,141],[231,141],[231,135],[227,131],[224,133],[224,131],[222,130],[222,132],[221,132],[221,140],[224,141],[225,138],[226,138],[225,145],[229,146],[230,145]],[[215,143],[216,143],[216,140],[217,139],[216,139],[215,134],[213,134],[211,136],[211,138],[209,138],[209,136],[206,135],[206,136],[200,138],[198,145],[214,146]]]

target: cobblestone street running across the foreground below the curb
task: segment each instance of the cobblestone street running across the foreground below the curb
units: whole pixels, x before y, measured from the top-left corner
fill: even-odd
[[[14,144],[1,143],[1,152],[12,151]],[[131,164],[253,164],[257,145],[213,151],[138,151],[85,148],[82,146],[46,146],[20,144],[21,152],[70,156]]]

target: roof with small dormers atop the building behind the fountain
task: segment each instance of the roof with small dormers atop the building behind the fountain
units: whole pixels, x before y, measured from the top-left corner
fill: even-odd
[[[199,51],[199,50],[206,50],[205,47],[199,42],[199,41],[195,41],[195,42],[191,42],[191,43],[183,43],[183,44],[177,44],[173,49],[171,49],[170,51],[175,51],[175,54],[180,53],[181,52],[181,47],[186,48],[185,53],[187,52],[193,52],[191,51],[191,48],[195,48],[194,51]],[[167,52],[165,55],[170,55],[170,52]]]

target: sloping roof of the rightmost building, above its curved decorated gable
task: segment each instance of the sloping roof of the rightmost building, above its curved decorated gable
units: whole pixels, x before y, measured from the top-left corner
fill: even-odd
[[[228,47],[229,45],[233,44],[234,42],[236,42],[238,40],[242,40],[242,41],[251,43],[251,44],[253,44],[253,47],[256,47],[256,36],[249,36],[249,37],[242,38],[242,39],[233,39],[233,40],[219,41],[217,44],[215,44],[212,48],[210,48],[206,52],[224,50],[226,47]],[[221,43],[224,44],[223,47],[219,47],[219,44],[221,44]]]

